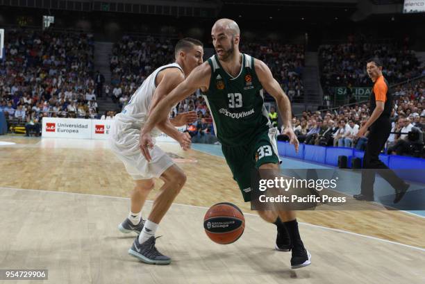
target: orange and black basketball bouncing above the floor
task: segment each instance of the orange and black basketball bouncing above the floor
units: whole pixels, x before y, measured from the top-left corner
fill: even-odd
[[[203,228],[213,242],[231,244],[244,233],[245,218],[235,204],[217,203],[203,217]]]

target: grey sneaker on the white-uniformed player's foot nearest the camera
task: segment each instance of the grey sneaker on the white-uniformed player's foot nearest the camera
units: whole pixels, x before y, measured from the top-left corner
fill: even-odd
[[[146,242],[139,244],[139,237],[136,237],[128,253],[149,265],[169,265],[171,258],[164,256],[155,247],[157,238],[152,236]]]

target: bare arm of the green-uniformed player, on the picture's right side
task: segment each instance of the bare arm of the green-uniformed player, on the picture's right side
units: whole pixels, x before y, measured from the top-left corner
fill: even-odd
[[[282,115],[283,134],[288,135],[291,144],[294,144],[295,150],[298,152],[299,142],[297,136],[292,130],[291,124],[292,111],[290,100],[286,96],[285,92],[283,92],[281,85],[279,85],[276,79],[273,78],[269,67],[267,67],[263,61],[256,59],[254,61],[254,66],[261,85],[263,85],[265,90],[271,94],[274,99],[276,99],[279,112]]]

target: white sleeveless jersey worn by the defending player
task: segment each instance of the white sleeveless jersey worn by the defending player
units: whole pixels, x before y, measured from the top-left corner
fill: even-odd
[[[183,72],[183,69],[176,62],[156,69],[144,80],[138,90],[134,92],[124,110],[115,115],[115,120],[127,124],[126,128],[140,129],[147,120],[152,97],[156,90],[156,76],[160,71],[167,68],[178,68]]]

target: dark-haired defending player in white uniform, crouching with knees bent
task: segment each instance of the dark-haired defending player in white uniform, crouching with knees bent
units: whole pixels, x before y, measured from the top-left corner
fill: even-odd
[[[135,180],[135,188],[131,193],[131,212],[124,222],[119,224],[119,230],[123,233],[134,231],[140,234],[135,238],[128,253],[149,264],[167,265],[171,262],[169,257],[156,249],[155,233],[161,219],[183,187],[186,176],[157,145],[149,152],[151,160],[144,158],[140,151],[140,130],[149,115],[155,112],[158,102],[183,82],[195,67],[202,64],[203,44],[199,40],[184,38],[177,42],[174,54],[176,62],[159,67],[149,75],[124,110],[115,116],[110,138],[111,149],[124,162],[128,174]],[[167,118],[158,122],[153,133],[158,135],[162,131],[186,150],[190,148],[190,135],[181,133],[174,126],[183,126],[196,119],[196,112],[177,115],[172,122]],[[144,222],[142,207],[153,189],[153,178],[161,178],[164,184],[153,201],[147,221]]]

